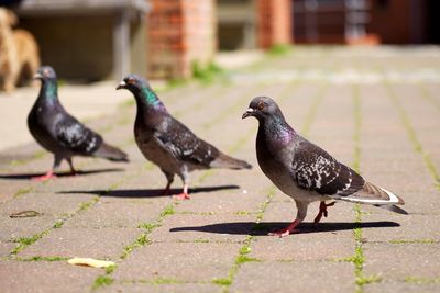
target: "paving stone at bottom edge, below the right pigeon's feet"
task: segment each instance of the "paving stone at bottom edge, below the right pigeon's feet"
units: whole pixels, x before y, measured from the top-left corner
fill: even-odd
[[[240,267],[230,292],[354,292],[348,262],[248,262]]]

